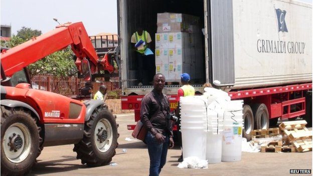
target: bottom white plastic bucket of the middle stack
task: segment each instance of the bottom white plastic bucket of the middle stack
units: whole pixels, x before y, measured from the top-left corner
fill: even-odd
[[[222,161],[222,137],[222,133],[207,133],[206,159],[209,164],[219,163]]]

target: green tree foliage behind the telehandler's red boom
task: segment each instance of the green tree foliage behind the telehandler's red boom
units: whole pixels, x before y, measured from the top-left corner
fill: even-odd
[[[33,37],[41,35],[41,31],[32,30],[31,28],[22,27],[18,34],[13,35],[10,41],[1,43],[1,46],[13,48],[20,45]],[[27,56],[25,57],[27,58]],[[32,58],[30,58],[32,59]],[[54,75],[54,76],[73,76],[77,74],[77,68],[74,64],[73,54],[70,47],[61,51],[55,52],[38,60],[37,62],[28,66],[31,79],[38,74],[41,75]]]

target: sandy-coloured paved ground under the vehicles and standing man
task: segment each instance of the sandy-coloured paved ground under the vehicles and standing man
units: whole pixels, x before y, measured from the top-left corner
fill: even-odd
[[[117,116],[119,147],[110,165],[87,167],[76,159],[74,145],[45,147],[30,175],[148,175],[149,157],[146,145],[127,141],[134,124],[133,114]],[[289,175],[290,169],[312,169],[312,152],[303,153],[248,153],[242,152],[241,161],[209,164],[207,169],[178,168],[179,147],[170,149],[167,163],[160,175]],[[290,174],[311,175],[311,174]]]

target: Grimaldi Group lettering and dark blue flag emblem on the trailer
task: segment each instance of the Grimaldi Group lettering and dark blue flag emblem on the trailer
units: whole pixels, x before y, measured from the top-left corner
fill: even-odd
[[[275,7],[274,7],[275,9]],[[256,48],[259,53],[288,53],[288,54],[304,54],[305,43],[301,41],[283,41],[279,39],[279,33],[287,33],[287,25],[285,17],[287,12],[281,9],[275,9],[278,28],[278,40],[258,39]],[[275,19],[275,18],[274,18]],[[293,33],[296,31],[292,31]]]

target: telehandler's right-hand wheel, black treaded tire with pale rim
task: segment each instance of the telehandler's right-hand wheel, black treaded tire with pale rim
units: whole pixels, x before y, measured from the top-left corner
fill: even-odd
[[[101,129],[101,127],[103,128]],[[95,137],[96,134],[100,133],[102,134],[100,139]],[[105,165],[112,160],[116,153],[118,136],[117,124],[113,114],[107,108],[99,106],[91,114],[90,119],[85,122],[84,137],[75,144],[73,150],[77,152],[77,159],[81,159],[82,164],[88,166]],[[111,141],[107,138],[110,138]],[[108,142],[108,145],[105,142]],[[105,145],[106,148],[100,148],[102,145]]]

